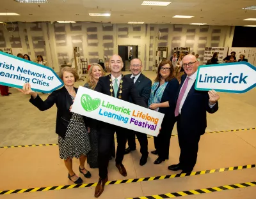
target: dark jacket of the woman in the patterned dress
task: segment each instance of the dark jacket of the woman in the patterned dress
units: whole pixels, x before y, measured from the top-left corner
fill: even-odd
[[[74,89],[77,92],[77,88]],[[56,104],[56,133],[64,139],[68,123],[72,116],[69,108],[73,104],[72,98],[70,97],[67,89],[65,87],[62,87],[61,89],[53,91],[45,101],[43,101],[39,95],[36,96],[35,99],[31,96],[29,102],[41,111],[51,108],[54,103]]]

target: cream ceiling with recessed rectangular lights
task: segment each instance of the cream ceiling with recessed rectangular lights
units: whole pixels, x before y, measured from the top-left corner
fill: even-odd
[[[166,1],[166,0],[163,0]],[[48,4],[17,3],[1,0],[0,12],[17,12],[20,16],[0,16],[0,21],[76,20],[111,23],[143,21],[148,24],[189,24],[204,22],[222,26],[256,25],[244,18],[256,17],[256,10],[242,10],[256,5],[255,0],[170,0],[169,6],[141,6],[142,0],[49,0]],[[111,17],[90,17],[88,13],[111,13]],[[29,15],[32,14],[32,15]],[[194,18],[172,18],[174,15],[193,15]]]

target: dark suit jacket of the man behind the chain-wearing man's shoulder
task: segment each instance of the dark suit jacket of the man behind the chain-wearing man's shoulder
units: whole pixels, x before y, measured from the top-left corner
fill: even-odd
[[[125,75],[125,77],[128,77],[128,78],[131,78],[131,76],[132,76],[132,74]],[[151,92],[152,81],[141,73],[140,76],[138,77],[138,79],[136,80],[134,86],[136,87],[137,91],[139,92],[139,95],[144,99],[145,103],[148,104],[148,99],[150,97],[150,92]],[[130,97],[129,101],[131,103],[133,103],[131,97]]]

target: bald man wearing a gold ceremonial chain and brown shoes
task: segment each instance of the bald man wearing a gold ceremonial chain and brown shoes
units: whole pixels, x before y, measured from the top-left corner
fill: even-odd
[[[134,101],[136,105],[147,107],[143,98],[139,96],[133,80],[122,75],[121,70],[124,67],[122,58],[119,55],[113,55],[109,59],[109,66],[111,68],[111,74],[99,78],[95,91],[108,94],[109,96],[113,96],[114,98],[119,98],[124,101],[129,101],[129,98],[131,97],[132,101]],[[120,104],[122,104],[122,101],[120,101]],[[116,167],[121,175],[127,176],[125,167],[122,164],[125,154],[127,129],[115,126],[114,124],[102,122],[99,130],[99,182],[95,189],[94,196],[96,198],[102,194],[104,186],[108,181],[108,162],[114,133],[116,133],[118,143],[116,149]]]

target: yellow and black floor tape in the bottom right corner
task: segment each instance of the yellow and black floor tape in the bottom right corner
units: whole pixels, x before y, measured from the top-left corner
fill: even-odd
[[[189,195],[198,195],[202,193],[213,193],[216,191],[226,191],[230,189],[240,189],[240,188],[248,188],[256,186],[256,181],[253,182],[244,182],[240,184],[230,184],[225,186],[218,186],[214,188],[206,188],[206,189],[194,189],[189,191],[179,191],[174,193],[164,193],[161,195],[152,195],[152,196],[141,196],[136,198],[127,198],[127,199],[163,199],[163,198],[176,198],[180,196],[189,196]]]

